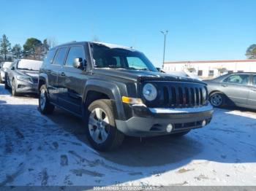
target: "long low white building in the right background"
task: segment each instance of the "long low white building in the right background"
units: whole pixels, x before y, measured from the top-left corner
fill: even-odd
[[[256,72],[256,59],[165,62],[164,71],[190,71],[199,77],[212,78],[232,72]]]

